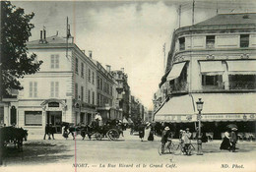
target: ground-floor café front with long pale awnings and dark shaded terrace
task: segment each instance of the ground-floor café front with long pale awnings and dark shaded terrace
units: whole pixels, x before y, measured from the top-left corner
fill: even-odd
[[[192,133],[198,127],[196,101],[204,101],[201,112],[202,133],[214,139],[222,139],[226,126],[237,126],[237,134],[254,136],[256,126],[255,93],[191,93],[170,97],[159,111],[155,121],[171,127],[175,137],[178,131],[190,128]]]

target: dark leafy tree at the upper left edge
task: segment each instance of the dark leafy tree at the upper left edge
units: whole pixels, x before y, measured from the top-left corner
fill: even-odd
[[[36,54],[29,55],[26,42],[34,26],[30,23],[34,14],[26,15],[9,1],[1,1],[1,72],[3,96],[11,89],[23,89],[19,79],[39,71],[42,61]]]

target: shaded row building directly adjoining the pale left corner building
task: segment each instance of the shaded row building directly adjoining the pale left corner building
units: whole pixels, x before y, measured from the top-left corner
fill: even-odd
[[[110,66],[106,66],[106,70],[97,61],[97,111],[102,117],[104,123],[107,119],[122,120],[122,110],[119,109],[117,98],[117,83],[110,74]]]

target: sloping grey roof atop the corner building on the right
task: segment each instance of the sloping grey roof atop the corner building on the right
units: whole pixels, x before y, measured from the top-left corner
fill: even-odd
[[[220,26],[256,24],[256,13],[219,14],[194,26]]]

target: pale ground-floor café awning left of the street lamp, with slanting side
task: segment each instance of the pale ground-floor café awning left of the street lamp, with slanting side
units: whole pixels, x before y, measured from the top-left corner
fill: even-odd
[[[193,99],[189,95],[171,97],[155,114],[156,122],[187,123],[196,121]]]

